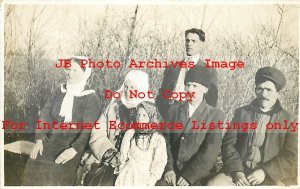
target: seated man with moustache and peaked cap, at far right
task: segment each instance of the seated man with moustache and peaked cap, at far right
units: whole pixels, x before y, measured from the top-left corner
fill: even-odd
[[[235,111],[232,123],[256,123],[243,133],[228,130],[222,144],[223,172],[208,185],[292,185],[297,184],[297,132],[270,130],[270,123],[297,122],[278,100],[284,88],[284,74],[272,67],[260,68],[255,76],[256,99]]]

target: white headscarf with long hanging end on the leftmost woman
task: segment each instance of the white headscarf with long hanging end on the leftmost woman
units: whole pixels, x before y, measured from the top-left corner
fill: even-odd
[[[87,57],[84,56],[74,56],[72,59],[79,59],[79,60],[87,60]],[[66,88],[64,88],[65,83],[61,84],[61,92],[66,93],[61,108],[59,115],[61,117],[65,117],[64,122],[68,123],[72,121],[72,111],[73,111],[73,103],[74,103],[74,96],[85,96],[91,93],[95,93],[94,90],[84,90],[84,87],[86,85],[86,81],[90,77],[92,72],[92,69],[90,67],[86,67],[84,71],[84,76],[83,79],[81,80],[80,83],[78,84],[70,84],[67,82]]]

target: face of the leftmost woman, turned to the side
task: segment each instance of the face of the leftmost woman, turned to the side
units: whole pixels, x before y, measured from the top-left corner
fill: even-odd
[[[70,84],[80,83],[84,76],[84,71],[81,69],[80,65],[72,60],[71,67],[66,68],[65,72],[67,74],[67,80]]]

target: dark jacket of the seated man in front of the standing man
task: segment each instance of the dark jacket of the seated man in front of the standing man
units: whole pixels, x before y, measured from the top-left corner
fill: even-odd
[[[193,116],[188,118],[188,103],[178,107],[171,107],[167,121],[181,122],[183,130],[170,131],[166,135],[168,163],[165,172],[174,170],[177,176],[182,176],[191,185],[201,182],[208,176],[217,161],[222,142],[220,130],[193,130],[191,123],[223,121],[225,115],[222,111],[208,105],[203,101]],[[172,132],[172,133],[171,133]],[[179,175],[178,175],[179,174]]]

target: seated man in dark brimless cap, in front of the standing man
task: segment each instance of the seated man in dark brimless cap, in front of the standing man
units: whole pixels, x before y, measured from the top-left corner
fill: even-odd
[[[206,103],[205,93],[213,85],[212,72],[196,65],[184,79],[187,92],[194,92],[192,101],[172,106],[166,121],[182,123],[183,129],[166,133],[168,162],[159,186],[203,185],[211,175],[221,148],[219,130],[193,130],[192,122],[224,120],[224,113]]]

